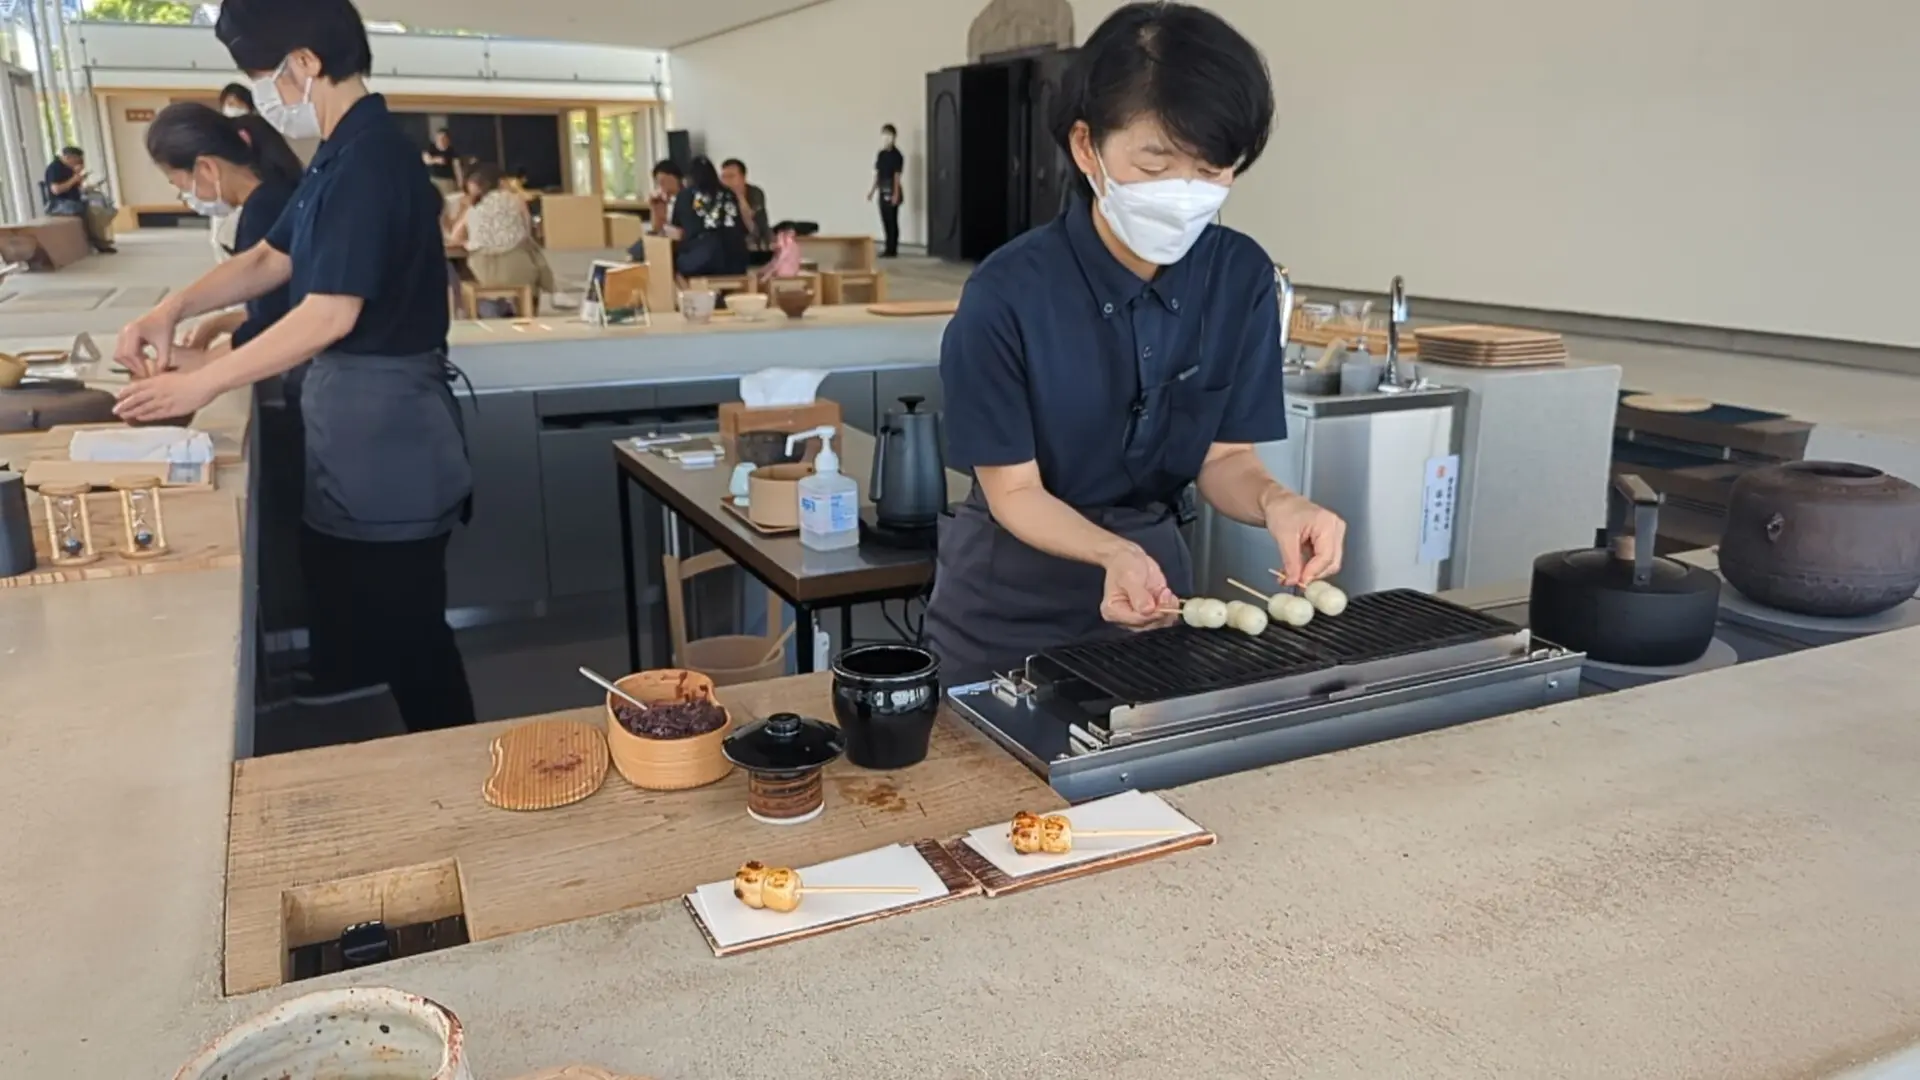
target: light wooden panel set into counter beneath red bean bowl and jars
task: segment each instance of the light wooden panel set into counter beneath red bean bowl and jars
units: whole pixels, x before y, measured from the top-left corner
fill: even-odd
[[[826,675],[720,692],[735,724],[776,711],[831,719]],[[543,717],[545,719],[545,717]],[[559,713],[605,724],[603,709]],[[922,765],[828,767],[812,822],[747,817],[747,778],[641,792],[618,771],[586,801],[541,813],[490,807],[480,786],[493,738],[522,721],[332,746],[234,765],[227,849],[227,994],[278,986],[300,897],[332,892],[348,919],[405,919],[407,882],[438,871],[474,942],[674,899],[726,880],[747,859],[806,867],[887,844],[952,840],[970,828],[1066,805],[987,736],[943,713]],[[419,869],[426,869],[424,872]],[[415,871],[394,874],[394,871]],[[367,882],[372,911],[351,907]],[[672,917],[672,915],[670,915]],[[323,934],[344,930],[324,922]],[[697,934],[689,924],[687,934]]]

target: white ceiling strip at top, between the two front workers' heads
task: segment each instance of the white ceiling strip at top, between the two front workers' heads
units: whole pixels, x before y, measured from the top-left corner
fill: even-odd
[[[828,0],[359,0],[361,15],[420,29],[676,48]]]

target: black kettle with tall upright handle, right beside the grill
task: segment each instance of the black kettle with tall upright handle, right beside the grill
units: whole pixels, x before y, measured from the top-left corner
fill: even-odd
[[[1599,663],[1674,667],[1713,646],[1720,578],[1653,553],[1661,496],[1632,475],[1607,488],[1599,546],[1534,559],[1532,632]]]

